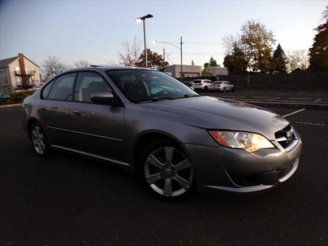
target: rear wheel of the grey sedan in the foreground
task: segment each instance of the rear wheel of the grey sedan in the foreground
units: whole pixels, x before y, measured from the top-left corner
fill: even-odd
[[[49,144],[46,134],[38,123],[32,125],[30,136],[35,153],[39,156],[46,156],[50,152]]]

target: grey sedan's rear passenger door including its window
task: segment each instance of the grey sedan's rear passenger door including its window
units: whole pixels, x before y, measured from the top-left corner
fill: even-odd
[[[76,73],[69,73],[57,77],[42,91],[38,113],[52,145],[64,147],[69,145],[69,110],[76,75]]]

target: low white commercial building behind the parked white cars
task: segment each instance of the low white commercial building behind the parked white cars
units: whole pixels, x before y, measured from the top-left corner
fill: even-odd
[[[182,74],[184,77],[201,76],[202,66],[182,65]],[[170,65],[165,67],[165,72],[175,78],[181,77],[181,65]],[[209,67],[208,76],[228,75],[228,68]]]

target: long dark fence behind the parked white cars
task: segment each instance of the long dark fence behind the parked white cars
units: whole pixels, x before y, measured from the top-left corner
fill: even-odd
[[[217,77],[185,77],[183,80],[210,79]],[[300,72],[289,74],[245,74],[220,75],[219,80],[227,80],[236,88],[250,89],[328,89],[328,72]]]

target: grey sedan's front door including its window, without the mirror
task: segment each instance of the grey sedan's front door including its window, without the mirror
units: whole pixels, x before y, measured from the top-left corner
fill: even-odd
[[[81,72],[77,76],[74,101],[70,106],[72,148],[93,154],[125,160],[124,107],[94,104],[95,92],[111,91],[103,76]]]

